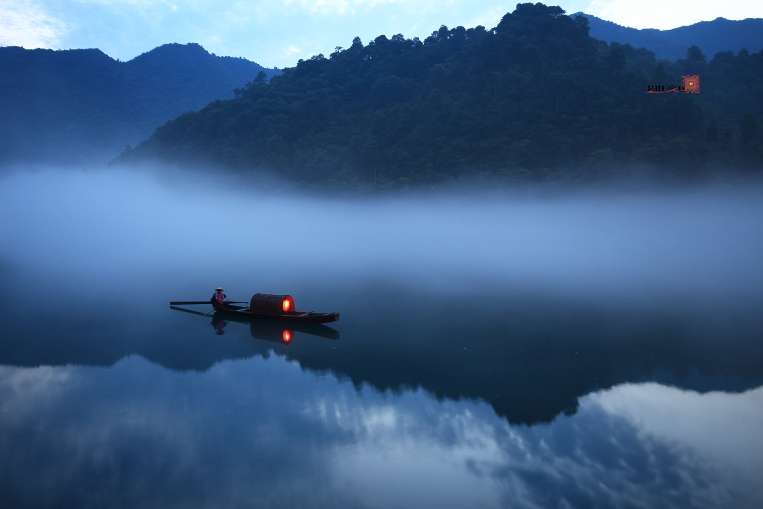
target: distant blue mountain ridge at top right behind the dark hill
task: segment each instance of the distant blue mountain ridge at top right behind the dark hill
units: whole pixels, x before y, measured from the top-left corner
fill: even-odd
[[[582,14],[582,13],[577,13]],[[575,16],[575,14],[573,14]],[[655,52],[658,59],[678,60],[686,56],[686,48],[697,45],[708,55],[719,51],[763,49],[763,19],[747,18],[732,21],[716,18],[713,21],[700,21],[686,27],[671,30],[655,28],[623,27],[612,21],[603,20],[591,14],[584,14],[591,25],[591,37],[607,43],[618,42],[633,47],[645,47]]]

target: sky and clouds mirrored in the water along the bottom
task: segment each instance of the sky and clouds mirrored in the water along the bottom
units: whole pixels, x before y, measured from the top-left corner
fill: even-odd
[[[16,507],[763,504],[763,388],[625,384],[526,427],[481,402],[356,391],[280,356],[203,373],[130,356],[2,367],[0,401],[0,488]]]

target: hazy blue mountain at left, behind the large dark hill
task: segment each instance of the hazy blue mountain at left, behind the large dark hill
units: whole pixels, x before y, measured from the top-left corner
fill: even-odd
[[[259,71],[277,69],[198,44],[165,44],[129,62],[100,50],[0,47],[0,163],[111,159],[170,118]]]

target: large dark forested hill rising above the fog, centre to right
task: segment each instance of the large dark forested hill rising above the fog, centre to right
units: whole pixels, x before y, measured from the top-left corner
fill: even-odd
[[[700,93],[646,93],[700,76]],[[118,159],[275,172],[304,186],[459,179],[673,178],[763,161],[763,53],[698,47],[675,62],[589,36],[588,20],[520,4],[490,30],[440,27],[300,60],[169,121]]]

